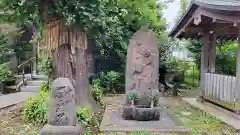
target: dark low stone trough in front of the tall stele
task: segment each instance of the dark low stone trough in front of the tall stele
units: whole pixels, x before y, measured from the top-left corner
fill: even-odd
[[[144,106],[123,106],[123,119],[137,121],[154,121],[160,119],[160,108],[147,108]]]

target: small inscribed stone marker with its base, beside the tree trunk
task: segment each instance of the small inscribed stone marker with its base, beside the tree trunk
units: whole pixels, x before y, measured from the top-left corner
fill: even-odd
[[[83,135],[84,130],[77,124],[75,93],[67,78],[57,78],[52,84],[49,119],[40,135]]]

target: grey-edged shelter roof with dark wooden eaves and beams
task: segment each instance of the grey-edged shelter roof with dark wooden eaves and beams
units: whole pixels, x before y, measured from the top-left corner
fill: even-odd
[[[193,0],[169,37],[200,39],[204,34],[214,33],[217,39],[235,40],[239,24],[240,1]]]

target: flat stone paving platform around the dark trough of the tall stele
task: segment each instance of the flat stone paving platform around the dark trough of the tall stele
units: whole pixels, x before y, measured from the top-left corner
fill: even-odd
[[[107,106],[100,131],[102,132],[189,132],[187,128],[183,128],[169,116],[165,111],[161,112],[159,121],[134,121],[124,120],[122,118],[122,106]]]

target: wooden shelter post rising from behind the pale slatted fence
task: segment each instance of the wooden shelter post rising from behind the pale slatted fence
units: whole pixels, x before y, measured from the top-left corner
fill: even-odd
[[[215,73],[215,63],[216,63],[216,36],[215,34],[210,34],[209,43],[209,72]]]

